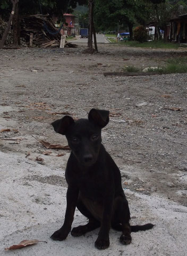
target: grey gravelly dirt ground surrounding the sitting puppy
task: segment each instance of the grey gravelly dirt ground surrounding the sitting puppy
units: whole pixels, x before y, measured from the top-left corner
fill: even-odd
[[[187,75],[104,77],[103,73],[121,71],[125,65],[158,66],[187,52],[102,44],[98,54],[89,55],[82,53],[84,47],[0,51],[0,250],[4,253],[4,247],[39,238],[48,245],[15,255],[87,255],[88,250],[98,255],[94,248],[98,230],[62,243],[48,238],[63,221],[69,151],[46,149],[38,141],[66,145],[50,123],[65,113],[87,117],[96,107],[111,112],[103,143],[120,167],[132,223],[156,224],[151,231],[133,234],[129,246],[121,245],[120,234],[112,230],[111,246],[102,255],[183,256]],[[145,106],[137,107],[139,101]],[[74,226],[84,222],[77,212]]]

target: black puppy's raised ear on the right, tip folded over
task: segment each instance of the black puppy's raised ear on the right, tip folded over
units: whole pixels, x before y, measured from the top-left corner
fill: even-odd
[[[88,114],[88,119],[90,122],[93,122],[100,128],[103,128],[109,122],[109,111],[92,108]]]

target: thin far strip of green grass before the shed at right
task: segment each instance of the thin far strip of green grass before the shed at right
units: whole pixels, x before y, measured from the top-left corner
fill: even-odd
[[[121,42],[123,44],[123,42]],[[143,48],[161,48],[161,49],[178,49],[180,47],[179,44],[176,43],[166,43],[163,41],[151,41],[145,43],[139,43],[137,41],[128,41],[125,42],[126,46],[131,47],[143,47]]]

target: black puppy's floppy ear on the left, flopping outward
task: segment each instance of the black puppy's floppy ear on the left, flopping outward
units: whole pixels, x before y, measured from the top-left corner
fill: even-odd
[[[74,120],[71,116],[64,116],[63,118],[58,119],[52,123],[55,132],[63,135],[66,134],[67,130],[72,124],[74,124]]]

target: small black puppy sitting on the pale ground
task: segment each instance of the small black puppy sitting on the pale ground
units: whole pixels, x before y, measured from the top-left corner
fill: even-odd
[[[67,207],[63,226],[51,236],[62,241],[71,231],[81,236],[100,227],[95,246],[109,246],[109,230],[121,230],[122,244],[131,243],[131,231],[147,230],[154,225],[130,226],[130,211],[121,185],[120,170],[101,144],[101,129],[109,122],[109,111],[91,109],[88,119],[74,121],[64,116],[52,123],[55,132],[66,136],[71,154],[65,178],[68,183]],[[75,207],[88,218],[87,225],[71,230]]]

